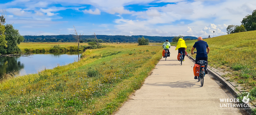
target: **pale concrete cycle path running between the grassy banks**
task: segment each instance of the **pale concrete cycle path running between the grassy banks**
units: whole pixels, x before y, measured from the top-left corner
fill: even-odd
[[[242,115],[238,108],[223,109],[220,98],[234,98],[211,75],[204,86],[194,80],[192,62],[188,57],[180,65],[178,51],[162,58],[144,85],[116,112],[115,115]]]

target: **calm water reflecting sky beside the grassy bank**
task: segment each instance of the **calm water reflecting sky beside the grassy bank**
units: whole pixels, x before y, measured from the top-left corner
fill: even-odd
[[[81,54],[81,53],[80,53]],[[0,57],[0,76],[12,71],[20,71],[19,75],[38,73],[59,65],[67,65],[78,60],[78,52],[33,54],[28,57]]]

